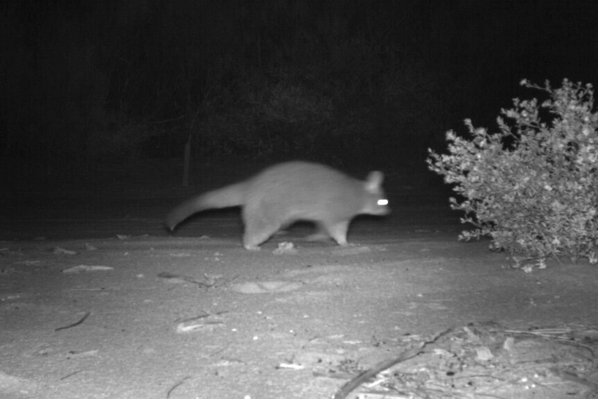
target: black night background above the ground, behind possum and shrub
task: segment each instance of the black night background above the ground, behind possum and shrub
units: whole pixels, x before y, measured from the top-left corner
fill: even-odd
[[[189,136],[196,162],[425,169],[446,130],[540,94],[522,78],[598,83],[597,3],[5,1],[3,175],[182,158]]]

